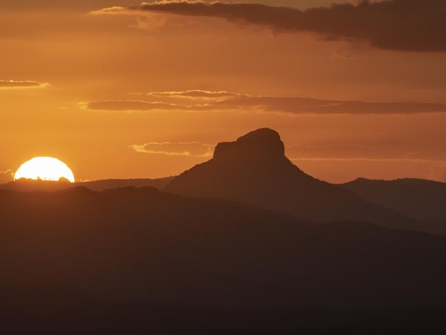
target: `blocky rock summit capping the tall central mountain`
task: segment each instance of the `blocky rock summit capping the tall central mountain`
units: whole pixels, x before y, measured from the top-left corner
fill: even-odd
[[[214,160],[271,160],[285,158],[285,146],[277,131],[269,128],[251,131],[235,142],[217,144]]]

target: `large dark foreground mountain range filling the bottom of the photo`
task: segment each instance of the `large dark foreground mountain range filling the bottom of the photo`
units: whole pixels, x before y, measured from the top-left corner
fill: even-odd
[[[0,190],[0,213],[5,334],[408,334],[443,320],[439,235],[155,188]]]

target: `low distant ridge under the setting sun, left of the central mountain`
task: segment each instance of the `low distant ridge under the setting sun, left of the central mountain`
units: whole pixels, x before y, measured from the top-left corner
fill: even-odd
[[[16,180],[8,184],[0,185],[0,189],[14,190],[14,191],[58,191],[65,188],[73,188],[78,186],[85,186],[91,191],[105,191],[109,188],[122,187],[155,187],[159,190],[166,187],[172,177],[165,177],[159,179],[109,179],[109,180],[93,180],[91,182],[75,182],[60,180],[58,182],[48,182],[45,180]]]

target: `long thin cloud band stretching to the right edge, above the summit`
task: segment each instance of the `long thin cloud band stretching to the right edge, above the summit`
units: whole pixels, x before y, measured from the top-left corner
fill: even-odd
[[[293,96],[249,96],[227,91],[150,92],[146,100],[82,102],[86,109],[108,111],[263,111],[300,114],[427,114],[446,113],[446,104],[430,102],[362,102]]]

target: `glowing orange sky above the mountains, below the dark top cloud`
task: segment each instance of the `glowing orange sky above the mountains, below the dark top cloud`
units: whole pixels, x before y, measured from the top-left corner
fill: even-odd
[[[279,131],[289,158],[323,180],[446,181],[443,45],[406,51],[338,31],[327,41],[219,13],[91,13],[129,0],[36,2],[0,13],[0,182],[39,155],[78,180],[173,175],[260,127]]]

